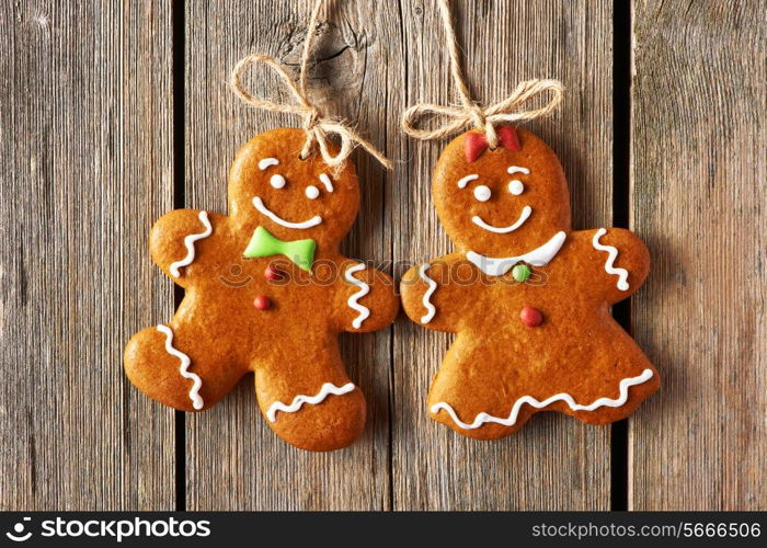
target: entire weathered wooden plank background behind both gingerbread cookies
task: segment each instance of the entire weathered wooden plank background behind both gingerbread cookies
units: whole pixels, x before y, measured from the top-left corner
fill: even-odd
[[[478,100],[559,78],[560,113],[530,124],[560,155],[575,228],[630,226],[645,287],[615,309],[660,369],[629,421],[537,415],[494,443],[425,416],[447,335],[404,317],[344,335],[369,401],[351,448],[274,436],[244,380],[176,413],[131,387],[122,350],[179,295],[146,250],[162,213],[224,213],[253,134],[296,119],[227,89],[245,54],[296,65],[309,2],[58,2],[0,7],[0,509],[767,509],[767,59],[764,1],[459,0]],[[432,0],[334,0],[312,95],[396,160],[364,153],[351,256],[451,249],[430,198],[445,142],[405,138],[416,101],[453,88]],[[262,94],[286,99],[255,75]],[[394,274],[404,267],[398,265]]]

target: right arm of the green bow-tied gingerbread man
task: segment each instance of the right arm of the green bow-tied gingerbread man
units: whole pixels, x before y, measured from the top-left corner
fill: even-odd
[[[340,264],[334,300],[341,331],[378,331],[390,326],[400,309],[391,276],[352,260]]]

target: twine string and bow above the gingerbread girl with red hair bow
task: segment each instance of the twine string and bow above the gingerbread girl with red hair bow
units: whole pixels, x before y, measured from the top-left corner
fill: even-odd
[[[559,106],[564,88],[558,80],[527,80],[519,82],[511,95],[486,107],[482,107],[472,101],[461,71],[460,53],[456,32],[453,27],[449,0],[437,0],[437,3],[445,30],[445,43],[450,56],[450,73],[458,91],[460,105],[444,106],[419,103],[411,106],[402,115],[402,129],[405,134],[423,140],[439,139],[473,127],[485,133],[488,145],[492,149],[497,146],[495,125],[546,116]],[[528,102],[545,93],[550,94],[546,104],[538,109],[524,110]],[[421,129],[419,121],[425,116],[447,119],[440,122],[434,129]]]

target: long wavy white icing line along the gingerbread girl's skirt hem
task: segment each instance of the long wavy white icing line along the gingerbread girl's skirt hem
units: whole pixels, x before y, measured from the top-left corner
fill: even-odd
[[[598,400],[594,401],[593,403],[589,403],[588,406],[582,406],[580,403],[576,403],[573,397],[566,392],[557,393],[543,401],[538,401],[533,396],[523,396],[514,402],[514,407],[512,408],[512,412],[508,414],[508,418],[502,419],[488,413],[479,413],[474,418],[474,421],[470,424],[458,419],[458,415],[456,414],[455,410],[450,407],[450,404],[444,401],[432,406],[431,411],[432,413],[438,413],[440,409],[444,409],[448,412],[453,421],[463,430],[479,429],[485,422],[495,422],[497,424],[503,424],[504,426],[513,426],[517,422],[519,409],[524,403],[533,406],[536,409],[543,409],[545,407],[548,407],[556,401],[564,401],[573,411],[594,411],[595,409],[600,407],[619,408],[623,406],[629,399],[629,388],[645,383],[652,377],[652,369],[644,369],[642,374],[637,377],[627,377],[620,381],[620,397],[618,399],[614,400],[610,398],[599,398]]]

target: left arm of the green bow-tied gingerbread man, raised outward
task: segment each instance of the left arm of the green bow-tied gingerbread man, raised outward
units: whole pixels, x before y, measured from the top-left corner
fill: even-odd
[[[175,209],[160,217],[149,232],[154,263],[176,284],[186,287],[199,259],[201,241],[214,233],[221,216],[196,209]]]

